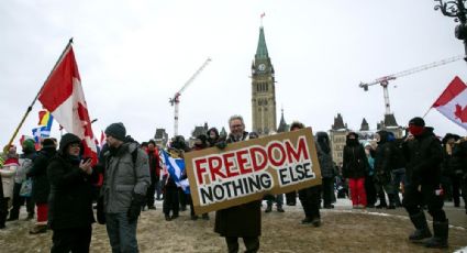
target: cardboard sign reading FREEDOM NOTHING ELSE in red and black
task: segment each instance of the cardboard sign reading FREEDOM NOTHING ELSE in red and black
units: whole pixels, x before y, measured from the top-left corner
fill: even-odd
[[[310,128],[185,154],[194,212],[321,184]]]

